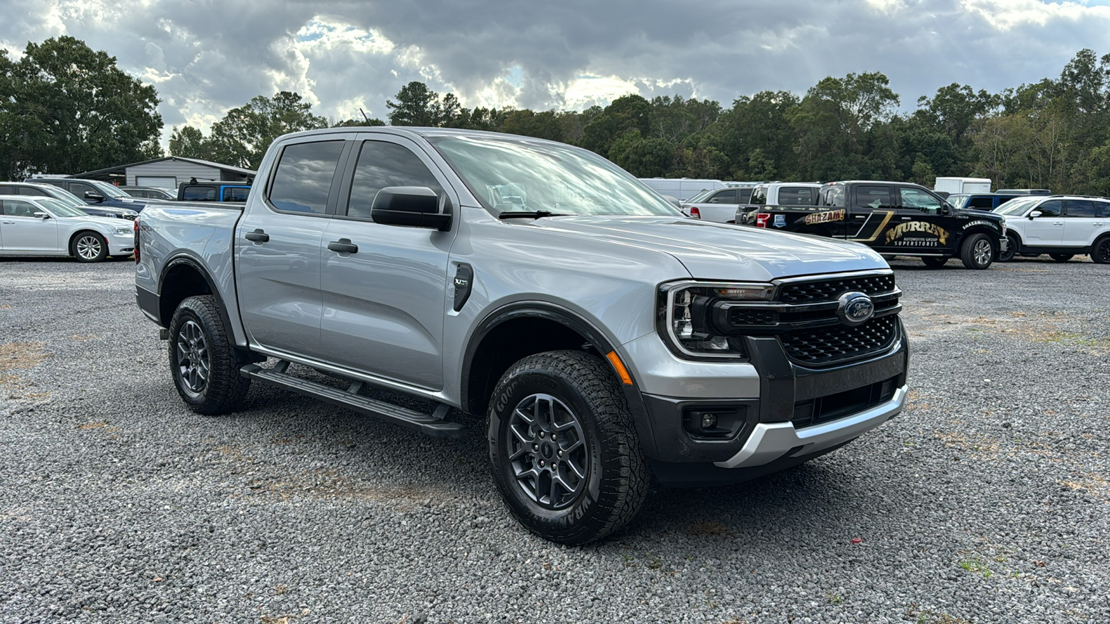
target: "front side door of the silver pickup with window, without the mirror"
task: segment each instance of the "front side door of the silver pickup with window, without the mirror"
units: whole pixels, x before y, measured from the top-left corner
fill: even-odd
[[[427,187],[444,199],[438,168],[404,139],[356,144],[350,190],[322,242],[321,341],[329,361],[425,388],[443,388],[443,319],[455,230],[382,225],[371,220],[385,187]],[[347,177],[344,177],[347,178]],[[455,202],[454,205],[458,205]],[[345,240],[351,253],[327,249]]]

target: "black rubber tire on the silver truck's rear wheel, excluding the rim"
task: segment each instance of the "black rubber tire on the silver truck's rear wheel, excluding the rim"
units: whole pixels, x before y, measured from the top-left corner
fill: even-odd
[[[195,331],[193,328],[198,326],[205,345],[208,376],[203,386],[194,391],[181,370],[185,359],[180,356],[179,344],[184,331]],[[243,362],[232,348],[214,296],[190,296],[178,305],[170,322],[169,355],[173,385],[190,410],[198,414],[216,415],[233,412],[242,405],[251,380],[239,374]],[[201,358],[203,360],[205,355]]]

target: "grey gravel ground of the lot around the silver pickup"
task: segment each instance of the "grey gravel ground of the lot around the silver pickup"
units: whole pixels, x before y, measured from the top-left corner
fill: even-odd
[[[132,264],[0,261],[0,622],[1107,622],[1110,269],[895,261],[908,409],[568,548],[481,435],[183,409]]]

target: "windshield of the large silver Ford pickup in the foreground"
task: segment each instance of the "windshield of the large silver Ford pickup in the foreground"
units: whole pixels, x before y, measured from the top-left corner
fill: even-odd
[[[557,143],[431,137],[482,204],[495,212],[640,214],[680,212],[612,162]]]

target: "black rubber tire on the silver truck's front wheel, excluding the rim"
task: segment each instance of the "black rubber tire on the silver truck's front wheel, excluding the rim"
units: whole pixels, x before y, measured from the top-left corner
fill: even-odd
[[[568,499],[561,509],[533,500],[511,459],[513,440],[511,440],[511,426],[522,422],[516,409],[536,395],[552,396],[568,407],[585,443],[582,489],[564,493]],[[568,545],[601,540],[627,524],[647,495],[649,471],[627,400],[609,365],[595,355],[548,351],[509,366],[490,401],[486,440],[490,472],[508,509],[528,531],[546,540]],[[565,443],[563,435],[558,442]],[[537,452],[533,459],[543,456]],[[536,469],[537,463],[529,465]]]

